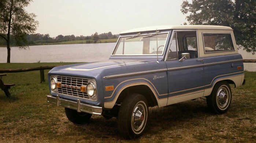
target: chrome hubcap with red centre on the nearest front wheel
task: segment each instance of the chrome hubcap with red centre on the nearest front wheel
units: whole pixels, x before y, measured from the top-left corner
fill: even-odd
[[[145,107],[141,103],[137,104],[133,109],[133,114],[131,116],[131,126],[133,130],[139,131],[143,127],[146,118],[145,110]]]

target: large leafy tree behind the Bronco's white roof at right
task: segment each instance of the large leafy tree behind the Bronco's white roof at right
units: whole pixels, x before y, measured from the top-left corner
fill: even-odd
[[[223,25],[234,30],[237,45],[247,52],[256,52],[255,0],[192,0],[183,1],[183,14],[190,24]]]

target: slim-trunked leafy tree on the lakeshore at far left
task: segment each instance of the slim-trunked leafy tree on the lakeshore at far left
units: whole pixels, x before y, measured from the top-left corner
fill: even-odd
[[[1,0],[0,8],[0,37],[7,43],[7,63],[10,63],[12,37],[19,48],[28,47],[27,33],[34,33],[38,21],[34,13],[27,13],[25,7],[31,0]]]

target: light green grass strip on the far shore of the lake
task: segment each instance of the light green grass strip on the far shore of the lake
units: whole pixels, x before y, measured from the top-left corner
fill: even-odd
[[[118,39],[100,39],[97,43],[116,43]],[[56,42],[56,43],[37,43],[32,45],[56,45],[56,44],[85,44],[87,40],[75,40],[75,41],[63,41],[63,42]],[[92,40],[90,40],[92,41]],[[0,45],[0,47],[6,47],[6,45]],[[12,45],[11,47],[15,47]]]

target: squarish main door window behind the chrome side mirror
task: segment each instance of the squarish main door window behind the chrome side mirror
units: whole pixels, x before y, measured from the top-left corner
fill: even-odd
[[[197,58],[197,34],[196,31],[178,31],[178,59],[186,56],[187,59]]]

